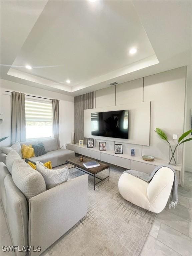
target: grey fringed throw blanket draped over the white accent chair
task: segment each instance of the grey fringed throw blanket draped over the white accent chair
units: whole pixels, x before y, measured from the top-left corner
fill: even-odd
[[[170,197],[170,202],[169,202],[169,210],[171,209],[171,207],[174,207],[177,205],[178,201],[178,192],[177,192],[177,175],[175,173],[175,170],[170,166],[170,165],[159,165],[157,166],[151,174],[147,174],[145,172],[139,172],[139,171],[135,171],[135,170],[127,170],[124,171],[123,173],[129,173],[139,179],[142,179],[144,181],[151,181],[153,176],[155,175],[155,173],[161,168],[161,167],[168,167],[170,168],[173,172],[174,172],[174,181],[173,181],[173,186],[172,186],[172,190],[171,190],[171,197]],[[122,173],[122,174],[123,174]]]

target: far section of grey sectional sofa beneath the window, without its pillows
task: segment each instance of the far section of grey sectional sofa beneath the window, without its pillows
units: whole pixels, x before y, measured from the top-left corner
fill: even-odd
[[[65,164],[65,161],[67,159],[75,157],[75,152],[72,150],[63,149],[63,148],[58,149],[57,141],[55,138],[38,140],[38,141],[37,140],[22,141],[19,143],[21,146],[23,144],[29,146],[30,144],[37,145],[40,142],[42,142],[43,145],[45,146],[45,151],[47,152],[47,154],[38,156],[38,157],[36,156],[31,157],[30,159],[34,162],[40,161],[42,163],[46,163],[47,161],[51,161],[52,167],[55,167],[55,166]],[[6,156],[7,156],[6,154],[1,153],[1,162],[5,163]]]

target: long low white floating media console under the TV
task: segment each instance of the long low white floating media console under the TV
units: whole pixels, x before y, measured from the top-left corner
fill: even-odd
[[[95,158],[110,164],[121,166],[127,169],[151,173],[158,165],[168,164],[163,160],[154,159],[149,162],[143,160],[141,156],[131,156],[129,154],[115,154],[114,150],[100,151],[99,148],[87,148],[87,145],[79,146],[79,144],[67,144],[67,149],[73,150],[75,153]],[[178,184],[181,184],[181,165],[173,166],[176,171]]]

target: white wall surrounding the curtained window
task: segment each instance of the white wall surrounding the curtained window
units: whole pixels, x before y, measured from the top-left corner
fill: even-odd
[[[0,91],[0,111],[4,113],[1,116],[4,121],[1,121],[1,137],[9,136],[8,139],[1,142],[1,146],[9,146],[11,138],[11,94],[7,91],[18,91],[25,94],[40,96],[45,98],[54,98],[60,100],[59,102],[59,119],[60,119],[60,144],[65,146],[66,143],[72,141],[72,134],[74,133],[74,97],[57,92],[52,92],[44,89],[27,86],[1,79]],[[34,99],[34,98],[33,98]],[[38,98],[36,98],[38,100]]]

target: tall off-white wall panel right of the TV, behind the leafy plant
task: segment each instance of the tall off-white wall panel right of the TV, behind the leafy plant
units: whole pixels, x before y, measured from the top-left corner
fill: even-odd
[[[144,101],[151,101],[150,146],[143,147],[143,155],[153,155],[168,161],[168,143],[159,138],[155,128],[162,129],[171,144],[183,133],[186,67],[144,78]],[[173,140],[177,134],[177,140]],[[182,163],[182,145],[178,147],[178,163]]]

